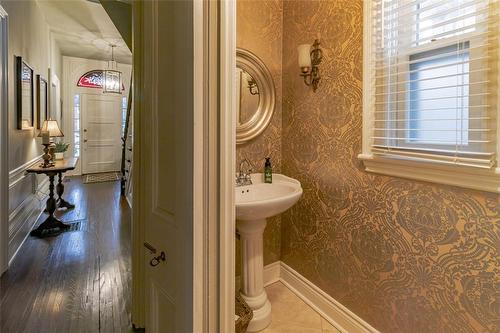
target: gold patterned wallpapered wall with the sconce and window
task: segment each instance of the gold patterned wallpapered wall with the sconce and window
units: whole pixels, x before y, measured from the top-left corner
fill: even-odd
[[[283,32],[282,170],[304,195],[282,215],[281,259],[381,332],[500,332],[499,196],[369,174],[356,158],[362,1],[284,1]],[[313,93],[296,47],[318,33]]]

